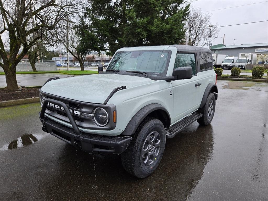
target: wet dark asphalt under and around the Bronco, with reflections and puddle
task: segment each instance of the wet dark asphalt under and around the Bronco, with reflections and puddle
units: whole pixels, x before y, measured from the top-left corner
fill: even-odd
[[[0,199],[267,200],[268,83],[218,80],[218,91],[211,125],[168,139],[144,179],[115,155],[94,157],[95,177],[92,154],[41,130],[39,103],[1,108]]]

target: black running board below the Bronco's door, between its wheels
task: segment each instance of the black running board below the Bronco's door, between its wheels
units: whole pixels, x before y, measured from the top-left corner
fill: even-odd
[[[197,112],[194,112],[188,117],[185,117],[183,120],[179,121],[175,125],[171,126],[169,129],[166,130],[166,137],[167,138],[172,138],[174,137],[177,133],[179,133],[182,129],[186,128],[190,124],[192,124],[194,121],[198,120],[201,118],[203,115]]]

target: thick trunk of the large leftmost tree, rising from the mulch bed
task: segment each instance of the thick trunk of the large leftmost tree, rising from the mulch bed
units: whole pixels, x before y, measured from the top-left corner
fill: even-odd
[[[6,87],[5,90],[7,91],[17,91],[18,90],[18,83],[16,79],[16,67],[15,66],[8,66],[9,64],[4,64],[4,71],[6,75]]]

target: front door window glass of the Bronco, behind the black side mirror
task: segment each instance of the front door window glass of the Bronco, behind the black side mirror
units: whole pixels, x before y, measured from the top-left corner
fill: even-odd
[[[185,66],[191,66],[192,75],[196,75],[195,53],[177,53],[174,69]]]

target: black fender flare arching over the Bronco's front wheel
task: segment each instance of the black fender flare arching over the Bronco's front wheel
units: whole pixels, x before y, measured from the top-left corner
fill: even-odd
[[[152,103],[149,105],[144,106],[142,109],[140,109],[128,122],[128,125],[126,126],[124,132],[122,132],[121,135],[132,135],[137,130],[140,123],[144,120],[144,118],[150,114],[151,112],[155,110],[163,110],[168,114],[169,122],[171,122],[170,114],[168,113],[168,110],[166,110],[165,107],[158,103]]]

